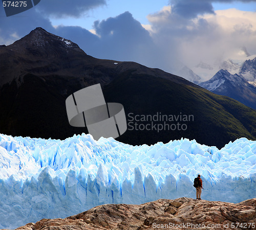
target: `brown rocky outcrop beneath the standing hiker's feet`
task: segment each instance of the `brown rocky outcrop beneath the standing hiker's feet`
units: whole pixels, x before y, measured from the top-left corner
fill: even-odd
[[[140,205],[104,204],[17,229],[255,229],[255,222],[256,198],[234,204],[182,197]]]

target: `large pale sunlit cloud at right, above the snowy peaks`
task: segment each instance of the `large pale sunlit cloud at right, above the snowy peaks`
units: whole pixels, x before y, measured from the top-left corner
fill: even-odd
[[[154,42],[165,48],[165,62],[179,59],[190,67],[200,61],[216,64],[241,58],[243,47],[256,54],[256,12],[228,9],[188,18],[170,7],[148,15],[148,20]],[[172,72],[172,66],[165,64],[164,70]]]

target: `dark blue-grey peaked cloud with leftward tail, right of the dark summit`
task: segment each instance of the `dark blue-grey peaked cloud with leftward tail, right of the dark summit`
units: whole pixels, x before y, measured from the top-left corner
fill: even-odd
[[[81,27],[59,26],[53,29],[51,33],[72,40],[93,57],[157,66],[154,54],[158,51],[150,33],[129,12],[95,21],[98,36]]]

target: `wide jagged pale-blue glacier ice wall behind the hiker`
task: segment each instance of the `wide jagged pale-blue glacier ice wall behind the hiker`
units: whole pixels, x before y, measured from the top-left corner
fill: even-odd
[[[66,140],[0,134],[0,228],[105,203],[195,198],[197,174],[202,199],[241,202],[256,197],[255,165],[256,141],[246,138],[219,150],[187,139],[131,146],[90,134]]]

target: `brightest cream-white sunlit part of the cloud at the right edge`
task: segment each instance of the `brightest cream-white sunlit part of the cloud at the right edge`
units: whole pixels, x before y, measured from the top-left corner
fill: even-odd
[[[256,12],[240,11],[237,9],[218,10],[216,14],[199,16],[208,22],[212,28],[215,43],[223,48],[223,58],[240,58],[246,47],[249,53],[256,54]],[[206,42],[206,41],[205,41]]]

